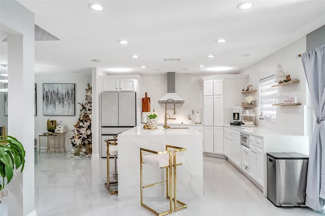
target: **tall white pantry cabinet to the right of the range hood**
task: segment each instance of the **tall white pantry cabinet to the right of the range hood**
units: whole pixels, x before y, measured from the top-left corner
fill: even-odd
[[[242,89],[247,87],[248,75],[216,75],[202,77],[204,93],[204,152],[224,154],[223,125],[230,124],[232,107],[241,106]],[[231,115],[231,116],[230,116]],[[227,122],[226,122],[227,121]]]

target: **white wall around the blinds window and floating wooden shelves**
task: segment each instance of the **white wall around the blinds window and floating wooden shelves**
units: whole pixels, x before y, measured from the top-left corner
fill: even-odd
[[[290,74],[291,79],[299,79],[300,83],[278,87],[280,95],[298,97],[301,106],[277,106],[277,122],[258,121],[258,127],[268,127],[275,131],[286,131],[290,134],[307,135],[305,130],[305,112],[310,112],[306,97],[306,78],[300,58],[296,55],[306,52],[306,37],[303,37],[263,60],[242,70],[241,74],[249,74],[248,85],[258,89],[259,80],[276,74],[277,64],[280,63],[286,75]],[[258,98],[258,92],[256,93]],[[258,101],[257,101],[258,102]],[[306,104],[307,103],[307,104]],[[284,116],[287,114],[287,120]]]

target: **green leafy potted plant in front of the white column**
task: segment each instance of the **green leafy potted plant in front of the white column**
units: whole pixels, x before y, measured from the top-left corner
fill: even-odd
[[[0,191],[11,181],[14,169],[21,167],[23,171],[25,165],[25,150],[22,144],[13,136],[0,136]]]

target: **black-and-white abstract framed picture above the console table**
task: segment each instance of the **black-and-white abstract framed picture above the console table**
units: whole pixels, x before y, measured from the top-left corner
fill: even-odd
[[[43,115],[75,116],[75,84],[43,83]]]

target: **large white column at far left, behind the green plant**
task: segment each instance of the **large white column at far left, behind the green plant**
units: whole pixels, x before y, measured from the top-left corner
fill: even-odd
[[[34,192],[34,14],[16,1],[1,1],[8,35],[8,135],[26,151],[25,167],[6,186],[9,215],[36,215]]]

